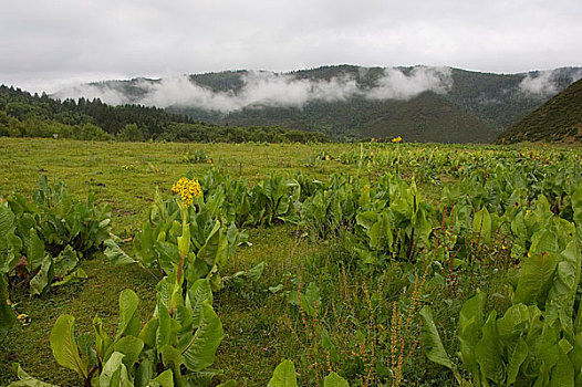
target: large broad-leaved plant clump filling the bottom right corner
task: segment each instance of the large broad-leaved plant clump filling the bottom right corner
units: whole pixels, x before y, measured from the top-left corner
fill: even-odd
[[[542,203],[543,205],[543,203]],[[575,307],[582,257],[573,224],[550,218],[531,238],[513,281],[513,304],[503,316],[484,314],[486,294],[465,302],[458,321],[463,367],[477,386],[578,386],[582,383],[582,307]],[[426,307],[428,358],[457,366]]]

